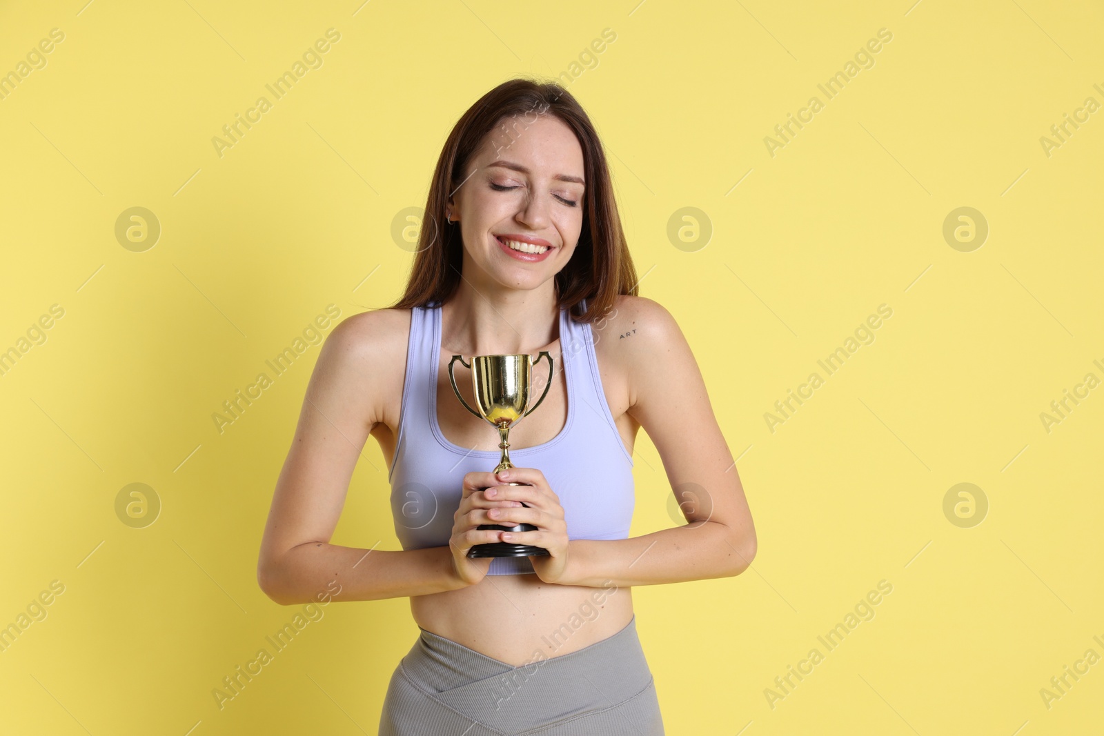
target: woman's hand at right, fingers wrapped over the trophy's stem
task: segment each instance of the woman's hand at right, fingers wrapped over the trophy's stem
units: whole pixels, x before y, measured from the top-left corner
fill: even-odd
[[[537,576],[545,583],[566,583],[567,523],[564,521],[560,498],[549,487],[544,473],[535,468],[510,468],[496,476],[502,483],[527,486],[495,486],[484,491],[496,501],[521,501],[526,506],[488,510],[490,524],[513,526],[526,523],[537,527],[533,532],[503,533],[502,541],[511,544],[532,544],[549,551],[545,555],[530,555]]]

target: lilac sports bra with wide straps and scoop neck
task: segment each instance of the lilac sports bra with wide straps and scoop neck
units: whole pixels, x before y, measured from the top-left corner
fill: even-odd
[[[602,390],[591,326],[560,310],[560,344],[563,356],[553,359],[555,370],[564,371],[566,378],[567,419],[548,442],[511,447],[510,460],[544,473],[563,506],[569,538],[628,538],[636,501],[633,458]],[[445,439],[437,424],[439,356],[440,307],[415,307],[390,471],[391,509],[403,550],[447,546],[464,476],[493,470],[500,456],[497,449],[473,450]],[[495,428],[484,424],[488,438],[493,439]],[[526,573],[533,573],[529,557],[493,557],[487,572]]]

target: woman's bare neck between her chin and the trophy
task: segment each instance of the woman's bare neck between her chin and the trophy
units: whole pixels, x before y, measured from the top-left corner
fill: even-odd
[[[460,279],[440,312],[440,344],[461,355],[535,354],[559,334],[555,284],[538,289],[476,288]]]

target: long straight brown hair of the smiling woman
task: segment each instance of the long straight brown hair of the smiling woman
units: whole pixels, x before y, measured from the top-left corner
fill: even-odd
[[[590,117],[555,82],[514,78],[469,107],[445,141],[433,172],[406,291],[394,308],[444,303],[456,294],[464,244],[458,223],[445,220],[448,198],[463,184],[464,171],[488,132],[496,127],[506,130],[509,120],[503,118],[512,120],[534,114],[549,114],[562,120],[574,131],[583,149],[586,180],[583,226],[571,260],[555,275],[559,308],[569,309],[576,322],[593,322],[613,309],[618,295],[637,295],[636,268],[617,212],[606,154]]]

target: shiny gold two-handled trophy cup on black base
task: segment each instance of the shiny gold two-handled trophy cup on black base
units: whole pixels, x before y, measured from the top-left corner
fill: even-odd
[[[532,367],[542,358],[549,359],[549,382],[544,386],[544,392],[528,410],[530,388],[532,386]],[[456,376],[453,374],[453,365],[460,362],[466,369],[471,370],[471,391],[475,394],[476,406],[479,410],[468,406],[468,403],[460,396],[460,391],[456,387]],[[510,428],[523,417],[533,413],[549,393],[552,385],[552,355],[542,350],[534,360],[532,355],[476,355],[471,359],[471,364],[464,362],[460,355],[453,355],[448,363],[448,382],[453,385],[453,393],[460,399],[468,412],[476,417],[486,419],[498,429],[499,449],[502,450],[502,458],[493,472],[500,472],[507,468],[512,468],[510,462]],[[521,486],[522,483],[502,483],[503,486]],[[521,505],[526,505],[522,503]],[[480,524],[480,530],[497,529],[503,532],[533,532],[537,530],[532,524],[518,524],[516,526],[502,526],[498,524]],[[468,550],[468,557],[524,557],[528,555],[548,555],[549,551],[532,544],[510,544],[509,542],[492,542],[488,544],[477,544]]]

